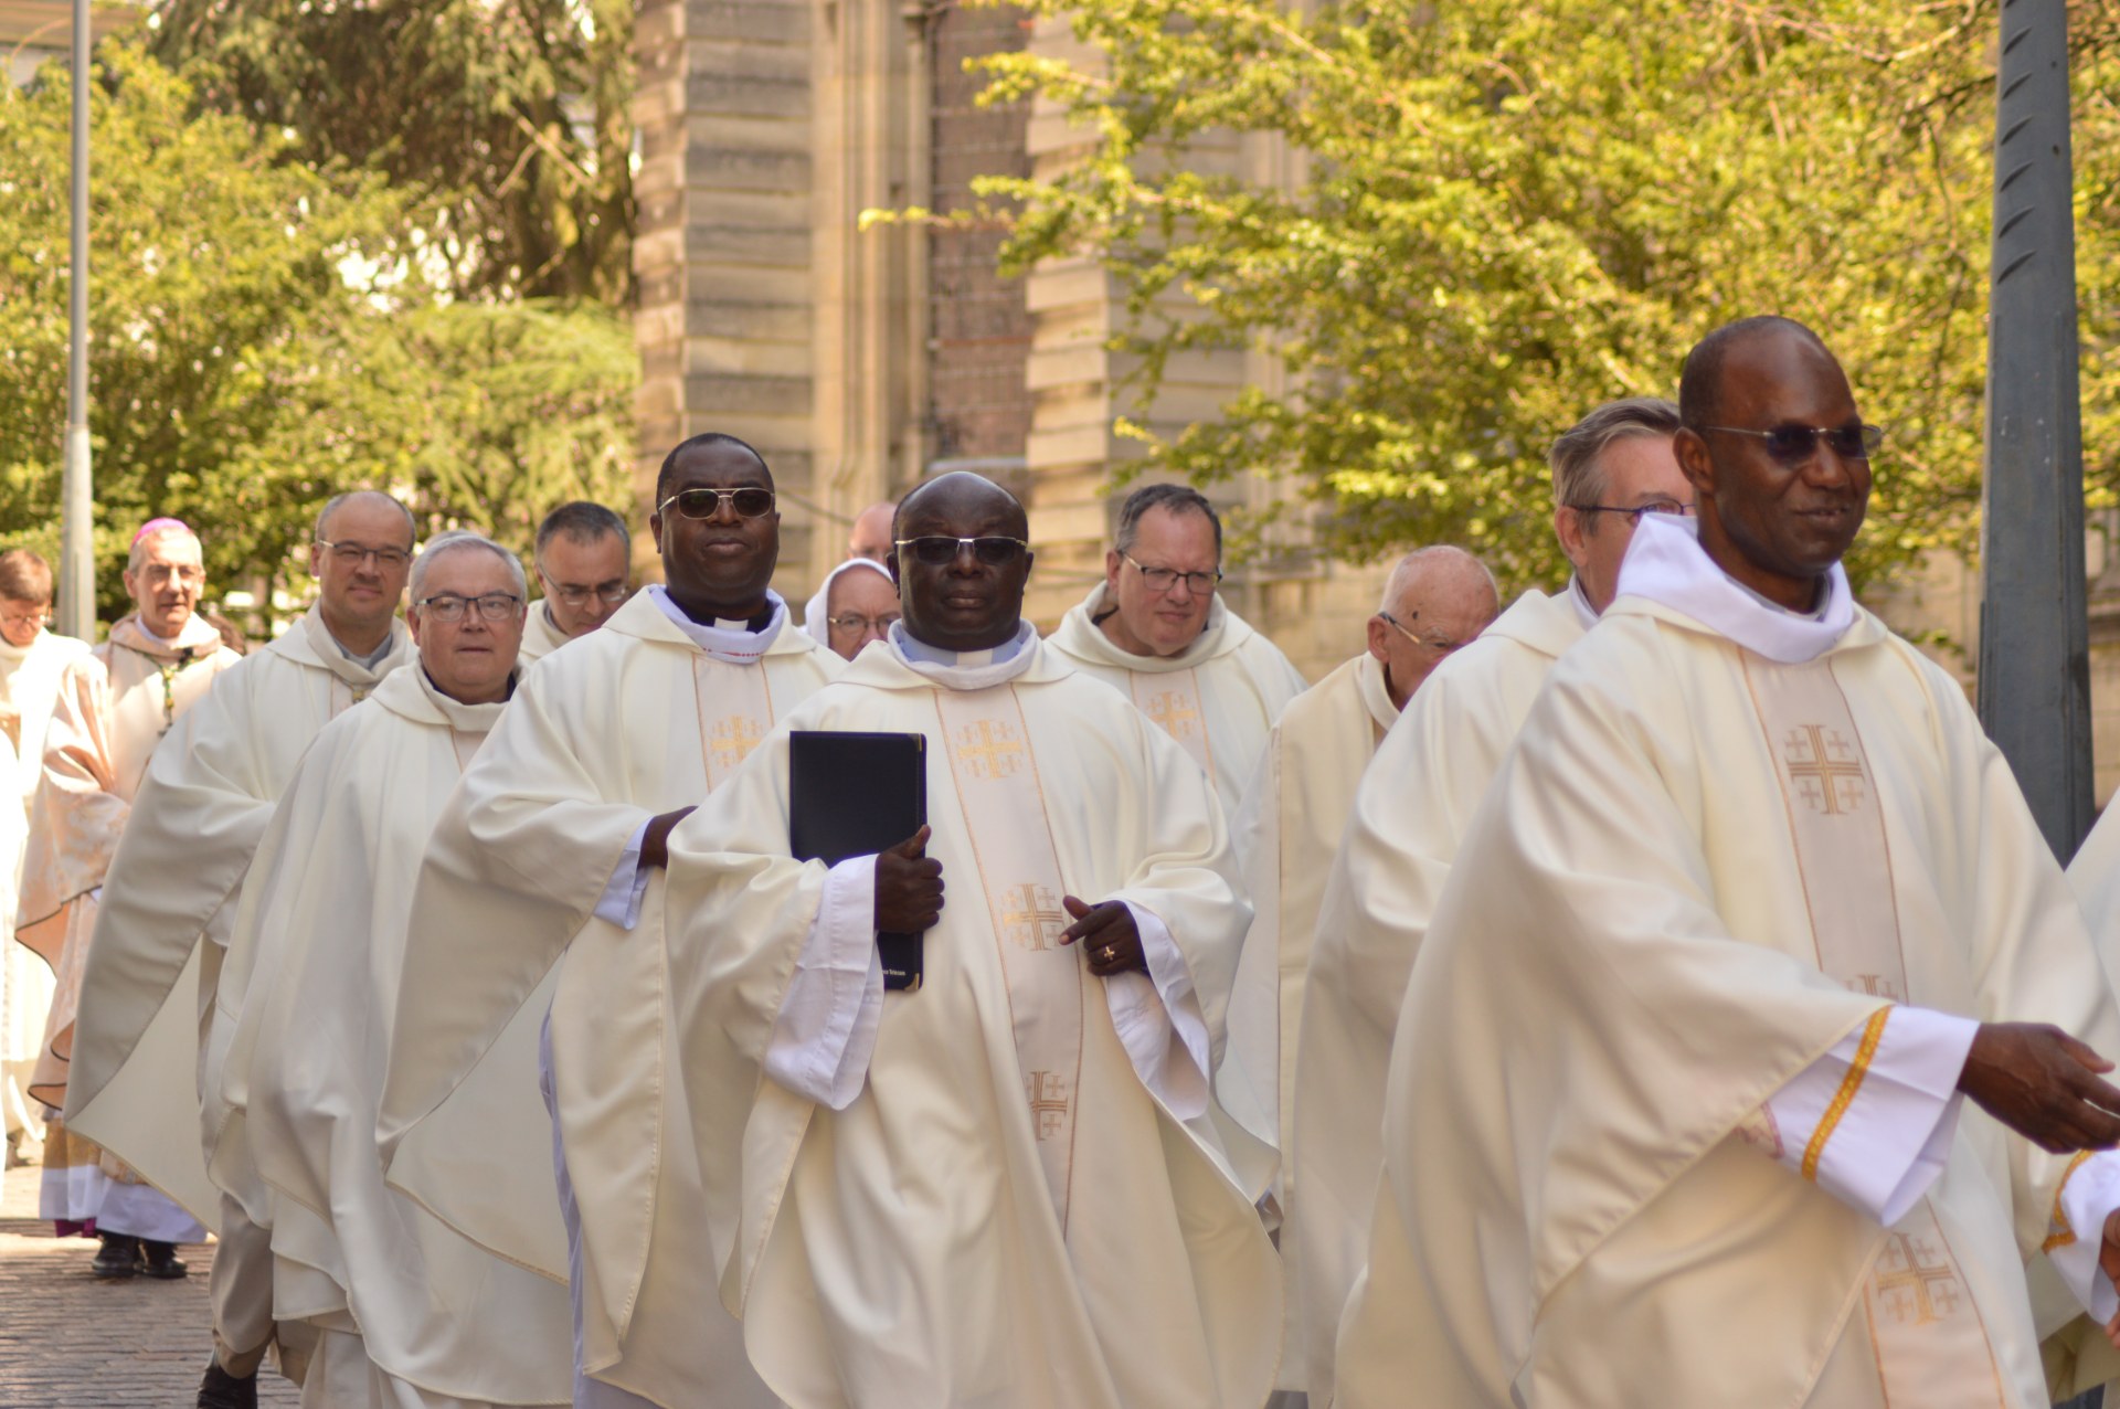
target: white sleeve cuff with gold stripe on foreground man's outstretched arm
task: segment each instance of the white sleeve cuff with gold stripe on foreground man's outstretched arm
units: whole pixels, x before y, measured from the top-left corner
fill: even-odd
[[[1878,1009],[1766,1100],[1774,1157],[1891,1227],[1950,1159],[1978,1030],[1936,1009]]]

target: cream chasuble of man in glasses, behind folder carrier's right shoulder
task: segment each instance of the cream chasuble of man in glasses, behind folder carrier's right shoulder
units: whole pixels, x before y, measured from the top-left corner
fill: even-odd
[[[1234,816],[1244,801],[1244,784],[1259,767],[1266,731],[1304,693],[1302,674],[1219,595],[1200,638],[1179,655],[1162,657],[1121,650],[1105,636],[1096,625],[1109,608],[1105,598],[1098,583],[1060,619],[1047,648],[1132,699],[1191,754],[1215,784],[1223,816]]]

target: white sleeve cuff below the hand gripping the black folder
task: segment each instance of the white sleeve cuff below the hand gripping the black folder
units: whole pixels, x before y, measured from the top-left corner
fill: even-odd
[[[765,1076],[803,1100],[846,1110],[869,1078],[882,1013],[876,858],[850,856],[825,877],[825,898],[765,1045]]]

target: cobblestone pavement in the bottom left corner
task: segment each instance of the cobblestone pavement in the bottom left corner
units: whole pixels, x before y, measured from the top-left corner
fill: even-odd
[[[36,1178],[8,1170],[0,1191],[0,1407],[187,1409],[212,1348],[212,1244],[180,1250],[182,1282],[98,1282],[95,1242],[59,1242],[36,1218]],[[295,1386],[259,1375],[259,1405],[295,1403]]]

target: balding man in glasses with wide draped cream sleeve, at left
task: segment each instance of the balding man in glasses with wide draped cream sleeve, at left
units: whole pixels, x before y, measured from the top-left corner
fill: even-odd
[[[218,1138],[208,1019],[223,947],[250,854],[303,750],[411,659],[396,621],[411,547],[411,515],[388,494],[324,504],[310,547],[318,604],[223,672],[176,723],[148,763],[104,881],[66,1119],[210,1227],[218,1220],[204,1409],[254,1403],[257,1367],[273,1343],[271,1244],[252,1216],[263,1184],[240,1142]],[[282,1369],[299,1371],[290,1350],[282,1348]]]

